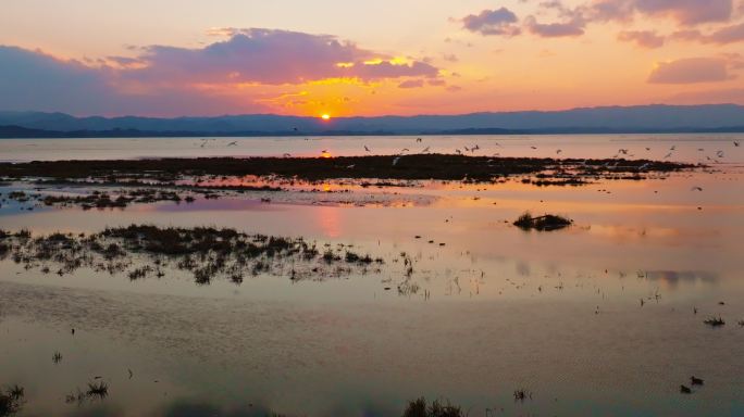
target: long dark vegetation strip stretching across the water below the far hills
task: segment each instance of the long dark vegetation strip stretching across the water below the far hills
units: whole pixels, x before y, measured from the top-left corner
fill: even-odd
[[[2,163],[0,177],[110,178],[154,177],[160,180],[185,176],[278,176],[303,180],[380,178],[410,180],[492,181],[516,175],[544,174],[550,178],[604,175],[640,176],[694,168],[695,165],[661,161],[555,160],[535,157],[487,157],[445,154],[340,157],[208,157],[115,161],[53,161]]]

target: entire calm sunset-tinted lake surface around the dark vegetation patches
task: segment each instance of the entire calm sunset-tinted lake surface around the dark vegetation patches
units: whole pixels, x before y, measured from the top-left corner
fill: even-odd
[[[567,157],[628,148],[658,159],[675,146],[672,160],[689,162],[724,151],[712,172],[645,181],[349,186],[343,197],[352,204],[293,191],[269,204],[249,192],[103,211],[29,212],[5,202],[2,229],[216,225],[354,244],[387,263],[382,274],[343,279],[197,286],[177,271],[138,281],[86,269],[58,277],[5,260],[0,387],[25,387],[26,416],[398,416],[421,395],[471,416],[742,415],[744,151],[732,138],[251,138],[209,150],[183,146],[197,139],[0,141],[3,160],[157,156],[169,147],[181,156],[351,154],[362,143],[376,143],[375,153],[401,143],[442,151],[479,143],[484,154],[555,156],[561,149]],[[392,203],[370,203],[381,195]],[[510,222],[526,210],[575,224],[523,232]],[[400,252],[414,262],[410,279],[394,261]],[[711,315],[727,325],[704,325]],[[692,375],[705,386],[680,394]],[[107,399],[65,403],[98,376],[109,383]],[[514,402],[517,389],[532,399]]]

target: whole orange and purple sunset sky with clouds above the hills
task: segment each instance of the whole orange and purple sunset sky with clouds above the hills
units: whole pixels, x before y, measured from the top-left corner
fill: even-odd
[[[0,110],[744,104],[744,0],[2,0]]]

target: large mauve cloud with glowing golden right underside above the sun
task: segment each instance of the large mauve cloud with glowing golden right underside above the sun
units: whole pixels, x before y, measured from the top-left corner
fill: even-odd
[[[138,58],[146,66],[126,76],[140,81],[283,85],[332,77],[376,80],[438,74],[429,63],[396,64],[392,56],[330,35],[271,29],[231,29],[230,34],[230,39],[200,49],[148,47]]]

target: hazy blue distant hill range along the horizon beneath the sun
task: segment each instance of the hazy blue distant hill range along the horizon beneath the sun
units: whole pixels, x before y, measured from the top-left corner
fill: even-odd
[[[744,131],[744,106],[656,104],[556,112],[339,117],[328,122],[271,114],[153,118],[0,112],[0,126],[2,138],[741,132]]]

